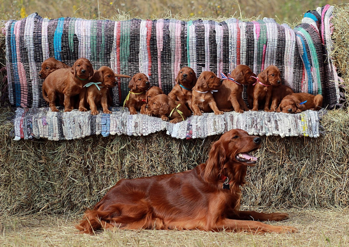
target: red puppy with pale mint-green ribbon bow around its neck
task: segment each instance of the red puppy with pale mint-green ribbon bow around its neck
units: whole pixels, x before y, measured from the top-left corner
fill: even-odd
[[[110,96],[109,88],[117,85],[115,77],[132,78],[131,76],[114,74],[114,71],[102,66],[96,70],[90,79],[90,82],[85,84],[84,90],[80,93],[80,111],[87,111],[86,103],[90,106],[91,114],[97,115],[98,105],[102,105],[103,113],[111,113],[108,109],[108,98]]]

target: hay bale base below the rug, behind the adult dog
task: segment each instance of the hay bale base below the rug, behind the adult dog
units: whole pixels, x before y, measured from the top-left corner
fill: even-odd
[[[158,132],[14,141],[9,135],[12,123],[4,121],[0,212],[6,213],[81,213],[121,178],[180,172],[205,162],[211,142],[219,138],[178,140]],[[349,115],[329,111],[321,123],[326,134],[319,138],[262,137],[259,162],[248,169],[243,206],[348,206]]]

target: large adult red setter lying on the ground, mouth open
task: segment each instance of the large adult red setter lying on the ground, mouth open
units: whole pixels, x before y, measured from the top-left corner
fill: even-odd
[[[206,163],[193,170],[121,179],[75,227],[81,233],[113,227],[297,232],[291,226],[258,222],[281,221],[288,214],[239,210],[240,186],[245,183],[247,167],[257,160],[249,152],[260,146],[260,137],[230,130],[214,142]]]

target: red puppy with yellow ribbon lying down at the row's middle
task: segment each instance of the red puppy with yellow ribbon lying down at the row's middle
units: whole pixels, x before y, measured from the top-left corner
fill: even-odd
[[[169,119],[171,119],[170,123],[184,121],[192,114],[183,102],[175,101],[166,94],[158,94],[149,99],[146,111],[148,115],[153,114],[154,116],[161,116],[163,121],[169,121]]]

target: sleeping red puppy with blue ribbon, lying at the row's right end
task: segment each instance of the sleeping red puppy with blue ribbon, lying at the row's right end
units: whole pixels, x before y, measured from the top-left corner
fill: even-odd
[[[310,93],[291,93],[281,100],[277,112],[300,113],[305,110],[320,110],[322,100],[321,94],[312,95]]]

